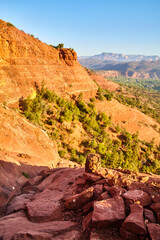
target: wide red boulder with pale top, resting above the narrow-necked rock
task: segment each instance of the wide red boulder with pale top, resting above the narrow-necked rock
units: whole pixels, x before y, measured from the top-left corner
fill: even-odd
[[[143,207],[151,204],[151,197],[142,190],[129,190],[123,197],[127,206],[132,203],[140,203]]]

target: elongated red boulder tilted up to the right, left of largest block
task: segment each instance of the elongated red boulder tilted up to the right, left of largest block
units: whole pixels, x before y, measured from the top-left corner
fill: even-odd
[[[89,202],[93,197],[93,187],[86,189],[85,191],[76,194],[72,197],[66,199],[66,208],[68,209],[78,209],[82,208],[87,202]]]

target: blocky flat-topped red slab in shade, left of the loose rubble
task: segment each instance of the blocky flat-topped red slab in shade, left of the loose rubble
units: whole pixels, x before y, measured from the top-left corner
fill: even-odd
[[[45,190],[36,194],[33,201],[27,203],[27,215],[31,221],[46,222],[59,220],[61,217],[60,200],[63,193],[56,190]]]

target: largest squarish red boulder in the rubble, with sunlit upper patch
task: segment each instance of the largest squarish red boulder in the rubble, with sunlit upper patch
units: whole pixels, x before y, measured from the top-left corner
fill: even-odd
[[[92,221],[99,226],[119,223],[125,218],[124,201],[119,196],[95,201],[93,209]]]

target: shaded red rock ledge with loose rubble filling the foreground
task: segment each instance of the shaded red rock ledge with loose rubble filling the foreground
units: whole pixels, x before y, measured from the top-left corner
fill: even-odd
[[[2,240],[160,239],[159,176],[101,169],[89,155],[85,169],[41,170],[21,185],[1,212]]]

